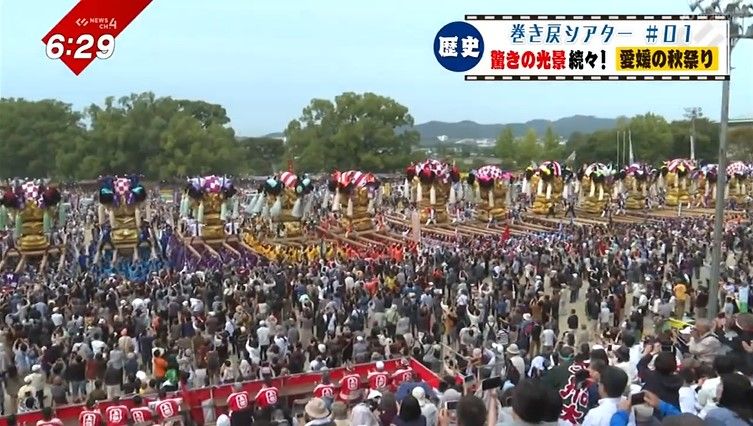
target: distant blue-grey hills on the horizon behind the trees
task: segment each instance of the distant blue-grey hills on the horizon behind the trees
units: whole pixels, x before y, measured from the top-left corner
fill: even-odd
[[[460,121],[447,123],[444,121],[429,121],[414,126],[421,133],[422,145],[434,145],[439,136],[447,136],[448,141],[460,139],[496,139],[505,126],[512,126],[515,136],[523,136],[529,128],[543,135],[547,127],[552,126],[554,133],[563,138],[569,137],[573,132],[591,133],[597,130],[614,128],[617,120],[614,118],[599,118],[592,115],[574,115],[560,118],[559,120],[531,120],[525,123],[509,124],[479,124],[475,121]],[[281,132],[265,135],[272,138],[282,137]]]

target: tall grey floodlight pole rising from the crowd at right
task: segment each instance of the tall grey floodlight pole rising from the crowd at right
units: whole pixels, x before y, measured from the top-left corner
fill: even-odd
[[[696,9],[703,15],[726,15],[730,19],[729,24],[729,50],[730,62],[732,62],[732,49],[739,40],[753,39],[753,25],[750,24],[750,18],[753,18],[753,3],[751,0],[734,0],[725,2],[726,6],[722,8],[720,0],[709,2],[708,6],[703,6],[705,0],[696,0],[690,4],[690,11]],[[746,22],[747,21],[747,22]],[[732,69],[730,67],[730,69]],[[732,78],[730,76],[730,78]],[[730,79],[722,83],[722,111],[719,123],[719,171],[716,180],[716,210],[714,213],[714,239],[711,247],[711,276],[709,277],[709,304],[708,318],[716,318],[719,312],[719,278],[721,275],[720,264],[722,263],[722,235],[724,233],[724,193],[727,186],[727,127],[729,125],[729,97],[730,97]]]

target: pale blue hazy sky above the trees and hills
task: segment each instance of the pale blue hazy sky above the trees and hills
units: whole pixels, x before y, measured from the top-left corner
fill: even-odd
[[[242,136],[281,131],[312,98],[345,91],[392,97],[416,123],[720,116],[720,82],[466,82],[433,53],[437,31],[465,14],[687,14],[683,0],[154,0],[79,76],[41,42],[75,3],[0,0],[0,96],[80,109],[152,91],[221,104]],[[753,117],[753,41],[732,64],[730,116]]]

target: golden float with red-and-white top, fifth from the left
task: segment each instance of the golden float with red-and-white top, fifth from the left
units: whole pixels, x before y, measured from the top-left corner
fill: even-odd
[[[339,215],[339,226],[346,233],[374,229],[372,217],[379,202],[379,179],[360,170],[334,171],[327,184],[329,194],[324,207]]]

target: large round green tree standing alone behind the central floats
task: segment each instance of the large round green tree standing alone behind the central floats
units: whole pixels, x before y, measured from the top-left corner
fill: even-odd
[[[412,126],[408,108],[374,93],[346,92],[334,103],[313,99],[285,130],[287,156],[307,171],[394,171],[418,144]]]

